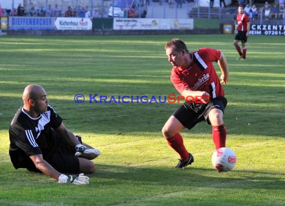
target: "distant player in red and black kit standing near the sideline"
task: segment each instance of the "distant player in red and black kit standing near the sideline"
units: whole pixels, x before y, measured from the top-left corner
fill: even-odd
[[[244,13],[242,5],[239,5],[237,10],[238,14],[236,15],[236,19],[234,19],[234,24],[237,25],[234,33],[236,33],[236,31],[237,33],[234,36],[233,45],[239,53],[239,56],[236,60],[244,60],[246,58],[245,42],[247,41],[247,37],[249,35],[250,21],[249,17]],[[241,41],[242,51],[238,45],[239,40]]]

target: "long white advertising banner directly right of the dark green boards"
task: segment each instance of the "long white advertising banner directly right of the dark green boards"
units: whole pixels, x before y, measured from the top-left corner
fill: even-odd
[[[114,30],[170,29],[167,18],[114,18]]]

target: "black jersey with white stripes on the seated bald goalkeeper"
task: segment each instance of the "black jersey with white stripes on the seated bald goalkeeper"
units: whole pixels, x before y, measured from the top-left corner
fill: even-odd
[[[52,128],[57,128],[61,122],[62,118],[49,105],[37,118],[28,115],[21,106],[9,127],[9,155],[13,166],[29,168],[34,166],[29,156],[42,154],[44,158],[52,154],[60,143]]]

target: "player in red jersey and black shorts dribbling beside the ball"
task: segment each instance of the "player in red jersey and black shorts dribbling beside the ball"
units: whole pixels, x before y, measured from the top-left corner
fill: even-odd
[[[206,121],[212,125],[215,148],[225,147],[226,129],[222,116],[227,100],[221,83],[227,83],[229,74],[226,59],[217,49],[201,48],[189,52],[182,40],[173,38],[165,44],[165,51],[168,61],[173,65],[170,79],[174,87],[185,99],[187,96],[198,99],[186,100],[162,128],[167,143],[180,155],[175,168],[184,168],[194,158],[183,144],[179,134],[182,129],[191,129],[198,122]],[[221,80],[215,72],[213,61],[220,67]]]

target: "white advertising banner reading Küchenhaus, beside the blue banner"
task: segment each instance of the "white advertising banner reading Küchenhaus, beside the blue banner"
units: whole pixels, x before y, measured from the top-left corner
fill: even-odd
[[[56,17],[54,26],[58,30],[91,30],[92,18]]]

